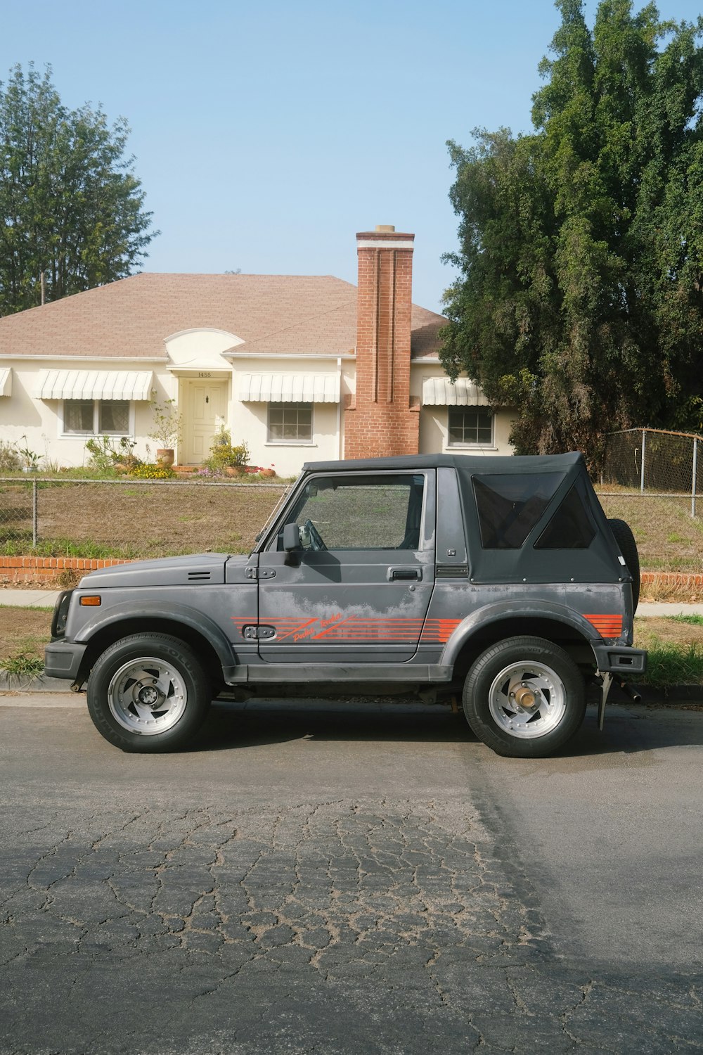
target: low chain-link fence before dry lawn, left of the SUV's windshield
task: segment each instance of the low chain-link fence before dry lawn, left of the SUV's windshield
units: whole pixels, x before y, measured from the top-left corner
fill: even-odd
[[[250,552],[285,484],[0,478],[0,545],[55,556]]]

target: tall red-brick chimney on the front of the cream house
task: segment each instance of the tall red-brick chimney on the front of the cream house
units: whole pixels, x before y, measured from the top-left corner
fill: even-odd
[[[414,234],[376,227],[356,235],[356,396],[345,408],[345,458],[417,454],[410,406]]]

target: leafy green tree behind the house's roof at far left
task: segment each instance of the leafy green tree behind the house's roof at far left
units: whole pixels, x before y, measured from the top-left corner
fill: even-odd
[[[0,314],[130,274],[158,232],[124,151],[129,128],[63,106],[51,79],[17,65],[0,82]]]

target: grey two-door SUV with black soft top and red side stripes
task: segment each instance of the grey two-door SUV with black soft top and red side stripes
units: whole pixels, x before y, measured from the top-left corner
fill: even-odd
[[[93,572],[54,614],[46,673],[87,683],[125,751],[182,747],[222,693],[462,696],[499,754],[572,736],[586,685],[641,674],[637,546],[579,454],[306,464],[249,556]]]

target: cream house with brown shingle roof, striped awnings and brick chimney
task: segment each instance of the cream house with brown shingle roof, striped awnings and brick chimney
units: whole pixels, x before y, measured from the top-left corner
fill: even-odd
[[[506,411],[437,358],[445,320],[411,302],[413,235],[357,235],[358,287],[331,275],[150,274],[0,319],[0,438],[62,465],[85,440],[152,456],[153,401],[173,399],[180,464],[219,424],[282,476],[372,454],[510,454]]]

